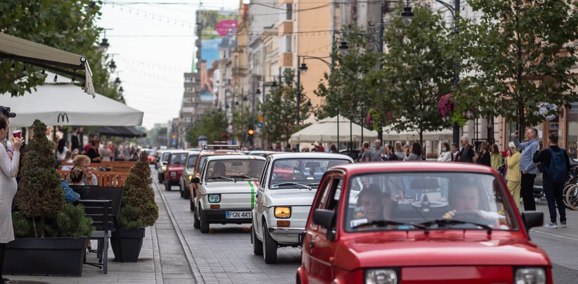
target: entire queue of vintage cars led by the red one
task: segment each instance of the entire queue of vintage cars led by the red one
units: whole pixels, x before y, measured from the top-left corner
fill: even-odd
[[[180,161],[194,227],[251,224],[266,263],[300,246],[297,283],[553,283],[528,235],[543,213],[520,214],[489,167],[223,147]]]

